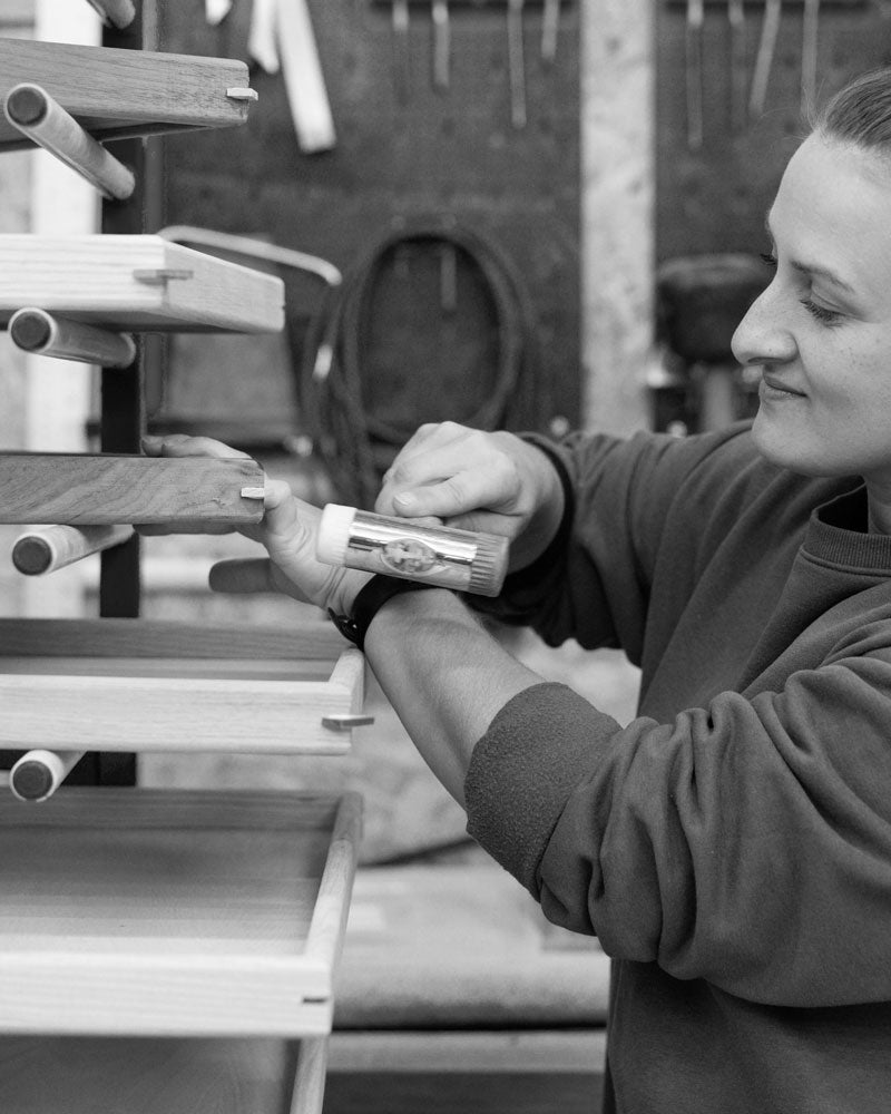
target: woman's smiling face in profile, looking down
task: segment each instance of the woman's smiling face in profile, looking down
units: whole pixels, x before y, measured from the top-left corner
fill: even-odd
[[[891,157],[811,136],[767,217],[773,281],[733,338],[762,369],[755,441],[891,494]]]

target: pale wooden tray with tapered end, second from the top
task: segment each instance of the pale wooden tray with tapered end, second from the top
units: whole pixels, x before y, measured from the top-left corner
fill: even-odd
[[[0,235],[0,324],[23,306],[126,332],[278,332],[284,283],[160,236]]]

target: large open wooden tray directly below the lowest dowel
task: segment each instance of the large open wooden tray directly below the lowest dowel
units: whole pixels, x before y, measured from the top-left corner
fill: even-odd
[[[361,803],[62,789],[0,804],[0,1033],[321,1036]]]

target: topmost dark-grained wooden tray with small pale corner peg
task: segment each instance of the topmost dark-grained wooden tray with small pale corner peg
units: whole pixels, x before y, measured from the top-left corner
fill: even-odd
[[[0,99],[22,81],[41,86],[98,139],[183,128],[223,128],[247,120],[247,66],[204,58],[109,47],[0,39]],[[31,141],[0,115],[0,150]]]

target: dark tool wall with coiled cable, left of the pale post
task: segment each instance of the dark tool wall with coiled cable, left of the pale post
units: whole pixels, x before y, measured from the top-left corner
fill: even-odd
[[[331,150],[300,149],[283,76],[261,67],[252,75],[260,100],[237,136],[165,140],[168,223],[309,252],[353,284],[341,390],[358,422],[324,392],[295,401],[288,377],[305,363],[322,293],[295,275],[285,275],[291,344],[284,360],[278,353],[277,383],[264,384],[256,361],[246,383],[218,348],[204,375],[190,349],[186,375],[174,351],[159,421],[239,413],[248,432],[256,420],[316,442],[327,434],[352,472],[368,463],[352,458],[363,419],[381,467],[427,420],[541,430],[578,422],[578,7],[561,3],[548,61],[542,4],[525,6],[522,78],[503,0],[448,8],[448,86],[434,88],[429,2],[409,4],[402,32],[389,0],[310,3],[336,129]],[[235,0],[212,27],[199,0],[163,4],[161,48],[246,58],[252,11]]]

